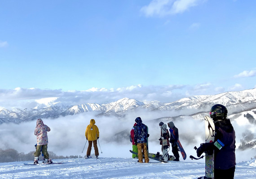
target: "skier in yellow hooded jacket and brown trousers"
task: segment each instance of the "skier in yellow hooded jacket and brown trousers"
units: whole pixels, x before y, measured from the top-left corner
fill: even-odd
[[[97,147],[97,139],[100,137],[100,132],[98,127],[95,125],[95,120],[91,119],[90,124],[86,127],[85,137],[88,140],[88,148],[87,148],[87,158],[90,158],[92,145],[94,147],[96,158],[99,156],[99,151]]]

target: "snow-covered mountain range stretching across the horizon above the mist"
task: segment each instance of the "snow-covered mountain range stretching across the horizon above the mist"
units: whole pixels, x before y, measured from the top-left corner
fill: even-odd
[[[20,123],[37,118],[58,118],[91,111],[96,112],[97,115],[118,116],[122,116],[129,111],[139,110],[179,111],[180,114],[193,116],[198,112],[209,111],[212,105],[215,104],[225,105],[229,110],[229,115],[256,109],[256,88],[238,92],[224,92],[216,95],[191,96],[170,103],[123,98],[108,104],[62,105],[57,103],[42,109],[2,109],[0,110],[0,124],[4,122]]]

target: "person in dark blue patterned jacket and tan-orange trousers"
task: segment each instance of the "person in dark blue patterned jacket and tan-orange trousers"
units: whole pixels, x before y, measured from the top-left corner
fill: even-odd
[[[140,117],[137,117],[135,119],[135,122],[137,123],[137,125],[134,126],[134,142],[138,148],[138,158],[139,158],[138,162],[143,163],[142,153],[144,153],[145,163],[148,163],[149,162],[149,155],[148,155],[148,148],[147,148],[147,138],[149,137],[148,127],[142,123],[142,120]]]

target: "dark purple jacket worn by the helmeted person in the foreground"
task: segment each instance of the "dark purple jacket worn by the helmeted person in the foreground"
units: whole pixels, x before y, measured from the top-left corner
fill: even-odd
[[[235,131],[230,119],[215,122],[215,141],[221,140],[225,145],[221,150],[215,148],[214,164],[216,169],[227,170],[236,165]]]

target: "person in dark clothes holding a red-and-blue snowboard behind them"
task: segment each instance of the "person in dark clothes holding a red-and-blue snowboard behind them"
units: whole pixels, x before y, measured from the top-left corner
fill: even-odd
[[[170,128],[170,143],[172,144],[172,153],[175,157],[173,161],[180,161],[180,155],[178,150],[177,141],[179,140],[179,130],[174,126],[173,122],[168,122],[168,127]]]

